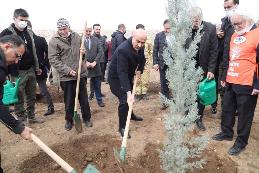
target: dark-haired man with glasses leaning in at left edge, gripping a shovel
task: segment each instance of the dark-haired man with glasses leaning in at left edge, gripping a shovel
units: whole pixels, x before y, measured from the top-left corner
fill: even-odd
[[[2,102],[5,77],[7,76],[7,66],[13,63],[18,63],[25,51],[24,41],[16,35],[7,35],[0,39],[0,122],[3,123],[8,129],[12,130],[15,134],[20,134],[24,140],[31,140],[31,133],[35,132],[33,129],[24,127],[20,121],[16,120],[10,114],[8,108]],[[8,132],[7,132],[8,133]],[[1,154],[0,154],[0,173],[3,173],[1,168]]]

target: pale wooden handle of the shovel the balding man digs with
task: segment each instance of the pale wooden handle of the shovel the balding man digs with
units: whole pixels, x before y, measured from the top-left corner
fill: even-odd
[[[135,80],[134,80],[134,85],[133,85],[133,89],[132,89],[132,97],[134,98],[135,95],[135,89],[136,89],[136,85],[137,85],[137,80],[138,80],[138,75],[135,75]],[[133,102],[130,101],[129,103],[129,112],[127,115],[127,121],[126,121],[126,126],[125,126],[125,131],[124,131],[124,136],[123,136],[123,140],[122,140],[122,144],[121,147],[126,147],[127,146],[127,139],[128,139],[128,133],[129,133],[129,123],[130,123],[130,118],[131,118],[131,113],[132,113],[132,107],[133,107]]]

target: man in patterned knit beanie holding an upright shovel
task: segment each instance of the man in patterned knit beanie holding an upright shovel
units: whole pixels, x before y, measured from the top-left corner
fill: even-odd
[[[60,86],[64,91],[65,103],[65,129],[71,130],[73,126],[75,95],[77,86],[77,75],[79,57],[85,49],[81,49],[81,39],[78,33],[70,30],[69,22],[60,18],[57,22],[58,31],[49,41],[49,62],[58,71]],[[82,61],[78,100],[81,105],[83,122],[87,127],[92,127],[91,112],[86,89],[86,67]]]

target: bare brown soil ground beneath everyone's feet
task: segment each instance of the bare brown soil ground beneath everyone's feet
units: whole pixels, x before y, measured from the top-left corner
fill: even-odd
[[[87,91],[89,94],[89,80]],[[122,137],[118,132],[118,99],[111,93],[109,85],[102,82],[102,93],[105,107],[98,106],[96,98],[89,101],[91,108],[91,120],[93,127],[86,127],[83,124],[82,133],[77,133],[73,127],[71,131],[64,129],[65,110],[63,92],[57,96],[57,86],[49,86],[54,101],[55,113],[50,116],[43,116],[47,110],[45,98],[38,95],[35,113],[38,117],[44,118],[42,124],[30,124],[36,135],[68,164],[78,172],[83,172],[87,164],[92,164],[100,172],[120,172],[113,154],[113,147],[119,152]],[[161,100],[158,97],[160,92],[159,72],[151,69],[150,87],[148,90],[149,100],[143,99],[134,104],[134,113],[143,118],[143,121],[131,121],[129,132],[132,136],[128,140],[126,160],[137,164],[144,172],[163,172],[160,169],[157,148],[163,148],[163,141],[166,134],[163,130],[163,113],[167,110],[160,110]],[[39,91],[39,90],[38,90]],[[87,99],[87,98],[85,98]],[[13,108],[13,106],[11,106]],[[221,111],[220,99],[218,111]],[[245,151],[238,156],[231,156],[227,153],[234,141],[218,142],[210,139],[210,144],[202,153],[201,158],[207,159],[203,168],[193,172],[259,172],[259,115],[258,106],[254,115],[254,122],[248,145]],[[79,113],[81,114],[80,110]],[[213,136],[221,131],[219,120],[211,118],[211,106],[205,107],[203,123],[206,131],[195,131],[189,135],[202,135],[209,133]],[[237,122],[237,120],[236,120]],[[236,123],[237,125],[237,123]],[[235,125],[235,129],[236,129]],[[65,172],[58,168],[56,162],[45,154],[34,142],[22,140],[18,135],[0,124],[1,136],[1,165],[4,172],[27,173],[27,172]],[[236,136],[234,136],[235,140]],[[90,159],[89,159],[90,158]],[[87,161],[85,160],[91,160]],[[190,172],[192,172],[190,170]]]

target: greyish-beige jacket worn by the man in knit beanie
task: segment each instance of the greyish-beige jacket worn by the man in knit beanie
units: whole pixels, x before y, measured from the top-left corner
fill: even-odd
[[[48,56],[49,62],[54,69],[58,71],[60,81],[65,82],[69,80],[77,80],[79,67],[79,48],[81,47],[81,39],[78,33],[70,30],[71,44],[66,38],[61,37],[59,32],[54,35],[49,41]],[[69,72],[74,70],[76,76],[70,76]],[[80,78],[86,76],[86,66],[82,61]]]

